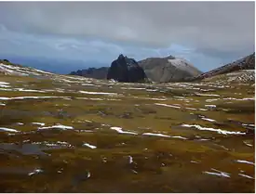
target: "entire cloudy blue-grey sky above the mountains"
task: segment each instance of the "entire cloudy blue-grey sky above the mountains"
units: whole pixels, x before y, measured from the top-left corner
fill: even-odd
[[[209,71],[254,52],[254,12],[254,2],[0,2],[0,56],[93,67],[172,55]]]

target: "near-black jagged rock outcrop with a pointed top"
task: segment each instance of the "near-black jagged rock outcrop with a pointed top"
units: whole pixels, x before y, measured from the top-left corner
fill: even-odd
[[[112,62],[107,79],[125,83],[140,83],[145,81],[146,74],[135,59],[120,55]]]

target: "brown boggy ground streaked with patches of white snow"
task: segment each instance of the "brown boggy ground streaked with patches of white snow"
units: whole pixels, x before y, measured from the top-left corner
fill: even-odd
[[[0,78],[2,192],[254,192],[254,84]]]

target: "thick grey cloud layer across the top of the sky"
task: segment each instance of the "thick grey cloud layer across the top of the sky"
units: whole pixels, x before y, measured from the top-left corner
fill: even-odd
[[[220,52],[254,46],[254,2],[1,2],[15,31]],[[3,16],[5,15],[5,16]]]

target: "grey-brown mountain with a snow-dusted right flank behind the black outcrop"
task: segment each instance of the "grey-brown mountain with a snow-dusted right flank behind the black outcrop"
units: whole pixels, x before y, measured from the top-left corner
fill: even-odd
[[[147,77],[154,82],[180,82],[185,78],[199,75],[192,64],[182,58],[146,58],[139,61]]]

